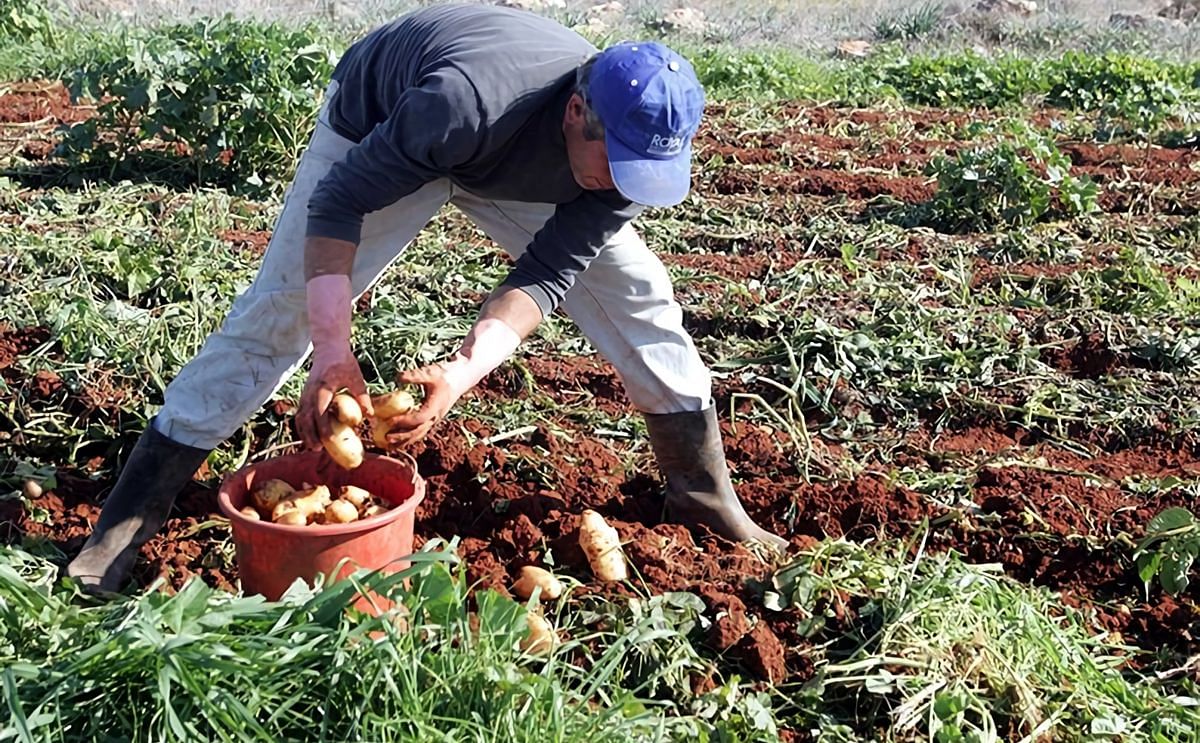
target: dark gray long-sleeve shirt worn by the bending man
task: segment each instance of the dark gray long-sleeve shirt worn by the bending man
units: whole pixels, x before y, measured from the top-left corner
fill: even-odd
[[[494,6],[432,6],[372,31],[334,71],[330,126],[358,143],[308,202],[308,235],[358,242],[362,217],[449,178],[485,198],[556,204],[505,284],[550,314],[642,206],[575,182],[562,122],[574,31]]]

